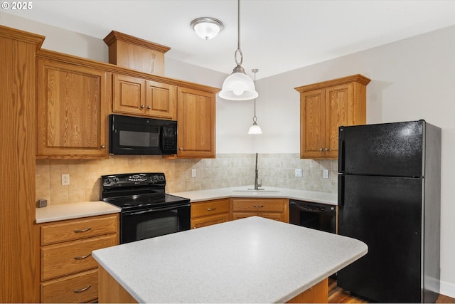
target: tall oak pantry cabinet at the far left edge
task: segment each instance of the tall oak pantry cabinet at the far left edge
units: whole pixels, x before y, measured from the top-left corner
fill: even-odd
[[[38,303],[35,154],[38,36],[0,26],[0,302]]]

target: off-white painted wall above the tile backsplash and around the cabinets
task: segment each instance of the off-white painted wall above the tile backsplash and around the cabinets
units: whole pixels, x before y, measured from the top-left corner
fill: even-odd
[[[47,36],[43,48],[107,61],[101,40],[0,12],[0,24]],[[50,41],[50,42],[48,42]],[[367,88],[367,122],[425,119],[442,128],[441,293],[455,298],[455,26],[257,80],[257,123],[247,135],[253,103],[217,99],[217,153],[299,152],[299,93],[294,88],[356,73]],[[281,56],[286,56],[286,53]],[[229,58],[220,60],[229,60]],[[247,61],[244,68],[249,67]],[[166,76],[221,88],[226,75],[166,58]],[[228,71],[230,72],[230,71]],[[259,75],[258,73],[258,75]]]

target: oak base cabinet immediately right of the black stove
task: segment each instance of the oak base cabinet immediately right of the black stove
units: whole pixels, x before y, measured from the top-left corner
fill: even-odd
[[[230,221],[230,199],[191,203],[191,229]]]

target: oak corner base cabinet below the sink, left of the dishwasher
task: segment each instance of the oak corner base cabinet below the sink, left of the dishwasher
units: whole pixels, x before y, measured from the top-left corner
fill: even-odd
[[[262,216],[289,223],[289,199],[232,199],[232,220],[248,216]]]

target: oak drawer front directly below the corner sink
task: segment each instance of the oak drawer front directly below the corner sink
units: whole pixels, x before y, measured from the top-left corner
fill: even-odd
[[[232,211],[284,212],[287,199],[232,199]]]

